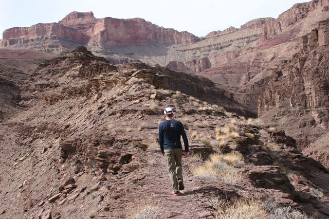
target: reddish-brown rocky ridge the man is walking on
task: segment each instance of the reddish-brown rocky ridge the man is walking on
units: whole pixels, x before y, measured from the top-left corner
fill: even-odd
[[[208,79],[83,47],[16,73],[20,98],[0,123],[3,218],[223,218],[245,199],[259,218],[329,217],[328,170]],[[190,141],[178,197],[156,143],[167,106]]]

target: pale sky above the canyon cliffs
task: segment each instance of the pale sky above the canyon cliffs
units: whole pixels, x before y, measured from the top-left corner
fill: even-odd
[[[205,36],[230,26],[240,28],[260,17],[277,18],[303,0],[0,0],[0,38],[5,29],[62,20],[72,11],[97,18],[141,17],[153,24]]]

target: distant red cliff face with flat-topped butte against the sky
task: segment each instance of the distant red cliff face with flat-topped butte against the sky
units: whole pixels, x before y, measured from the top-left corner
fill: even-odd
[[[143,19],[96,19],[93,12],[72,12],[59,23],[14,27],[3,33],[2,47],[32,48],[59,52],[73,46],[90,45],[96,49],[112,46],[149,44],[191,44],[199,39],[188,32],[158,27]],[[56,42],[49,46],[49,42]]]

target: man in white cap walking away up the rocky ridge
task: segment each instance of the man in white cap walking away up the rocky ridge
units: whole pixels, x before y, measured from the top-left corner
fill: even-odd
[[[180,136],[184,140],[184,155],[189,156],[189,142],[181,122],[174,120],[174,113],[171,107],[167,107],[165,111],[165,121],[159,125],[159,144],[162,156],[166,157],[170,174],[171,184],[173,186],[173,194],[179,195],[179,190],[184,190],[184,182],[182,175],[181,157],[182,147]]]

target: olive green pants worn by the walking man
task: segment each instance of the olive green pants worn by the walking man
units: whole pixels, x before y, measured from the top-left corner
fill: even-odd
[[[165,158],[168,162],[168,169],[170,175],[171,185],[173,191],[178,190],[178,179],[183,179],[183,172],[181,166],[182,149],[165,150]]]

